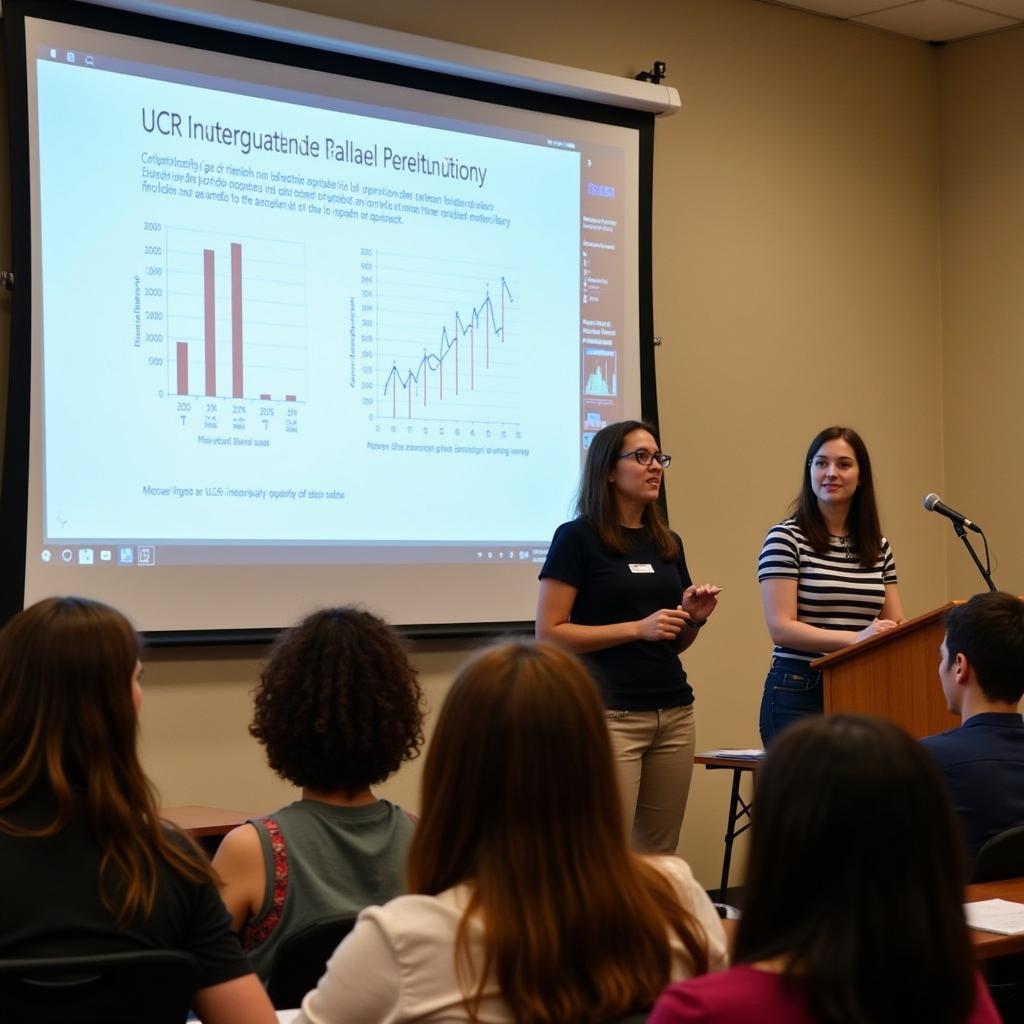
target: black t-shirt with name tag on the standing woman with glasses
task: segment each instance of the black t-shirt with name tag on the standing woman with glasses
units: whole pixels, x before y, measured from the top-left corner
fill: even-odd
[[[577,589],[570,620],[581,626],[646,618],[658,608],[675,608],[690,586],[683,545],[666,559],[646,529],[624,529],[630,550],[609,551],[583,517],[555,530],[541,579],[550,577]],[[635,640],[584,654],[601,687],[604,703],[616,711],[654,711],[693,703],[675,644]]]

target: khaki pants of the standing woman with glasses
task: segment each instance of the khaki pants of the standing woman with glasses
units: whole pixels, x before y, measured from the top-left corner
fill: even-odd
[[[675,853],[693,774],[693,706],[604,714],[634,847]]]

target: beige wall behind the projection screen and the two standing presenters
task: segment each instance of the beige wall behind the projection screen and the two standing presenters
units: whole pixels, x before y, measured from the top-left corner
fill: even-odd
[[[512,19],[454,0],[294,6],[615,75],[668,62],[683,97],[655,144],[670,510],[694,574],[725,588],[686,658],[701,746],[757,741],[770,645],[755,561],[820,427],[851,423],[871,446],[907,611],[945,599],[945,534],[920,501],[943,485],[938,110],[951,49],[753,0],[522,0]],[[463,655],[418,651],[432,707]],[[287,798],[246,733],[258,656],[148,660],[144,758],[168,803]],[[418,778],[415,763],[385,792],[415,808]],[[698,771],[684,824],[682,852],[709,886],[726,783]]]

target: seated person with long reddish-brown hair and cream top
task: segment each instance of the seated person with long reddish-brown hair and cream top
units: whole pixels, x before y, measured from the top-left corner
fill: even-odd
[[[630,850],[594,680],[551,644],[459,674],[423,774],[410,893],[359,914],[301,1022],[584,1024],[725,964],[677,857]]]

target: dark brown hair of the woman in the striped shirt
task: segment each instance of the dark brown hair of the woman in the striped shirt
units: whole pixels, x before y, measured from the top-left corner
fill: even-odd
[[[879,509],[874,501],[874,477],[871,474],[871,457],[867,445],[852,427],[825,427],[807,449],[804,458],[804,479],[800,496],[793,503],[793,517],[797,520],[808,544],[819,554],[828,551],[828,527],[818,500],[811,487],[811,462],[822,444],[834,440],[844,440],[853,449],[857,460],[858,486],[850,504],[847,529],[850,547],[857,553],[857,560],[865,568],[870,568],[882,556],[882,526],[879,523]]]

